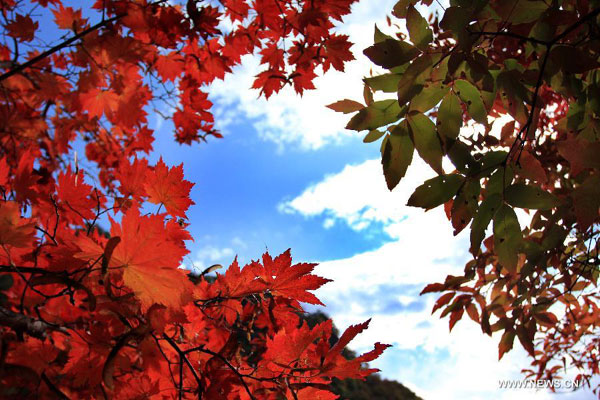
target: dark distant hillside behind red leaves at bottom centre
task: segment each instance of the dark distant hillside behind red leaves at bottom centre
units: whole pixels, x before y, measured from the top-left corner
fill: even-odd
[[[329,317],[323,312],[305,314],[304,320],[310,327],[326,321]],[[339,331],[334,326],[331,334],[331,344],[339,339]],[[356,358],[356,354],[345,348],[342,352],[347,359]],[[368,376],[366,380],[360,379],[334,379],[331,383],[332,391],[341,396],[342,400],[423,400],[400,382],[382,379],[379,374]]]

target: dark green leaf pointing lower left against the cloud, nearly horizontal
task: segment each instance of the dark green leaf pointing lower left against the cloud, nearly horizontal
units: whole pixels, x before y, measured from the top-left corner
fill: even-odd
[[[407,205],[426,210],[444,204],[454,197],[465,177],[458,174],[440,175],[425,181],[408,199]]]

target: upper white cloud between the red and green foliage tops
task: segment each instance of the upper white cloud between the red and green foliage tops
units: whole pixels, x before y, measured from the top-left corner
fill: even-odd
[[[356,135],[343,129],[348,122],[347,115],[325,106],[344,98],[362,100],[362,78],[373,68],[362,51],[372,44],[375,22],[380,27],[385,25],[386,13],[394,3],[394,0],[363,0],[353,6],[352,14],[337,31],[349,35],[355,43],[352,51],[357,60],[347,63],[345,72],[330,70],[318,77],[314,82],[317,90],[306,91],[302,97],[286,87],[268,102],[264,97],[259,98],[258,90],[250,89],[254,76],[262,70],[259,58],[244,56],[234,73],[227,75],[224,81],[214,82],[209,89],[215,102],[217,128],[227,133],[228,126],[236,122],[241,113],[252,121],[263,139],[280,147],[299,144],[304,149],[318,149]]]

